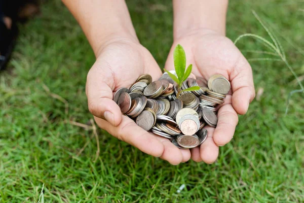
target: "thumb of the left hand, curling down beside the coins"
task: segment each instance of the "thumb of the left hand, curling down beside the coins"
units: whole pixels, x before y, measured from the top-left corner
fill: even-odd
[[[98,64],[98,69],[105,66]],[[100,73],[103,73],[100,75]],[[90,112],[98,117],[105,118],[111,125],[117,126],[122,120],[122,113],[119,106],[113,101],[113,76],[109,71],[96,73],[92,68],[87,76],[86,93]]]

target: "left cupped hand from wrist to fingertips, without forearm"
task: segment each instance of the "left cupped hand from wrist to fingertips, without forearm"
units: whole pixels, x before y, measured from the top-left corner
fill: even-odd
[[[150,74],[157,80],[162,72],[147,49],[137,41],[114,39],[108,41],[97,54],[87,76],[88,107],[99,127],[142,152],[160,157],[171,164],[188,161],[188,149],[178,149],[168,139],[156,136],[137,126],[122,115],[113,101],[113,92],[129,88],[140,75]]]

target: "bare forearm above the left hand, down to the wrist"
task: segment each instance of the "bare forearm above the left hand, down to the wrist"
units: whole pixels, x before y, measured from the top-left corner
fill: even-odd
[[[96,56],[113,39],[138,41],[125,1],[62,1],[81,25]]]

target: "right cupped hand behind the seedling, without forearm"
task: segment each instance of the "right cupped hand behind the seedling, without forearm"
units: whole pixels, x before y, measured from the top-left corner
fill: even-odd
[[[208,29],[199,29],[179,36],[166,61],[165,68],[174,70],[173,50],[177,44],[186,53],[186,65],[193,64],[192,73],[207,81],[214,74],[221,74],[231,82],[232,90],[218,110],[216,128],[208,130],[207,140],[191,150],[194,161],[213,163],[218,156],[218,146],[230,142],[238,124],[238,114],[245,114],[255,97],[250,64],[228,38]]]

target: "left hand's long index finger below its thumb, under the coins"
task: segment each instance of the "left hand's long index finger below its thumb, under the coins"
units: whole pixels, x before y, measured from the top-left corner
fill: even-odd
[[[159,139],[157,139],[153,134],[150,134],[146,130],[142,129],[136,123],[128,118],[127,116],[122,116],[122,122],[114,127],[109,125],[109,123],[101,118],[94,117],[97,125],[112,134],[112,136],[122,140],[126,143],[133,145],[134,147],[138,148],[140,151],[160,157],[163,156],[165,153],[164,143],[162,143]],[[172,144],[173,145],[173,144]],[[168,147],[166,143],[166,158],[167,160],[167,153],[172,152],[171,148]],[[178,150],[173,151],[175,153],[180,153]],[[173,154],[174,155],[174,154]],[[180,154],[180,161],[182,159],[182,155]],[[169,160],[168,160],[169,161]]]

